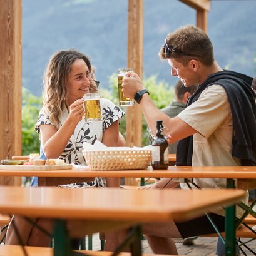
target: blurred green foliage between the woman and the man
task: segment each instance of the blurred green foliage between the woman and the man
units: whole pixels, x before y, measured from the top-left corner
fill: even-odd
[[[105,88],[100,89],[101,96],[104,98],[108,98],[113,103],[118,105],[118,86],[117,86],[117,76],[116,74],[112,74],[109,80],[110,90],[106,90]],[[157,76],[150,76],[148,78],[143,79],[144,86],[150,92],[150,97],[158,108],[164,108],[167,106],[170,101],[173,100],[173,87],[168,86],[167,83],[162,81],[157,81]],[[123,108],[123,107],[121,107]],[[130,108],[130,106],[126,107]],[[126,108],[123,108],[123,111],[126,112]],[[142,146],[148,145],[148,136],[146,133],[146,121],[142,120]],[[120,133],[126,138],[126,116],[122,118],[120,123]]]

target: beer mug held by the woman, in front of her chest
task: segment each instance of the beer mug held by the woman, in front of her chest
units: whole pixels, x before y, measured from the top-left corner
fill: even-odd
[[[83,100],[85,121],[101,121],[100,93],[86,93]]]

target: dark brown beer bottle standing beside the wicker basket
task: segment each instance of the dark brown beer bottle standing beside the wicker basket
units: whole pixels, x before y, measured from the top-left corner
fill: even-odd
[[[156,121],[156,138],[152,142],[152,168],[168,168],[168,142],[163,134],[163,121]]]

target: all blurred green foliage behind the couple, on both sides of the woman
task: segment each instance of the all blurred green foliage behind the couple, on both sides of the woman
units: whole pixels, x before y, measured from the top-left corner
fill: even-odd
[[[173,88],[168,84],[157,81],[157,76],[150,76],[143,80],[143,84],[150,91],[151,99],[158,108],[163,108],[173,99]],[[101,96],[108,98],[118,105],[118,88],[117,76],[112,74],[110,76],[110,88],[106,90],[100,89]],[[34,130],[38,113],[41,108],[42,99],[34,96],[28,89],[23,87],[22,91],[22,154],[29,155],[29,153],[37,153],[40,148],[40,141],[38,133]],[[123,107],[122,107],[123,108]],[[129,108],[129,107],[128,107]],[[126,108],[123,108],[126,111]],[[146,134],[146,121],[143,119],[142,123],[142,145],[148,145],[148,138]],[[121,120],[120,132],[126,136],[126,117]]]

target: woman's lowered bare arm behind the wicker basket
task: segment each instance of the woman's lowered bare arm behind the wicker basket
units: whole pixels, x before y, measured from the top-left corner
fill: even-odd
[[[102,143],[106,146],[118,146],[119,138],[118,120],[112,123],[105,131],[103,131]],[[119,178],[106,178],[107,187],[119,187]]]

